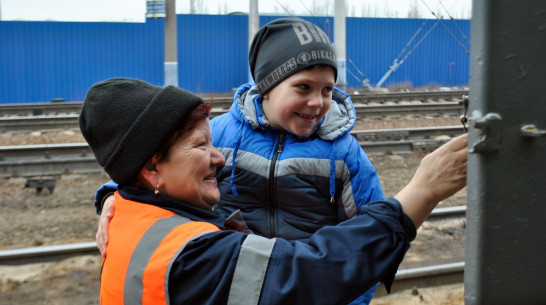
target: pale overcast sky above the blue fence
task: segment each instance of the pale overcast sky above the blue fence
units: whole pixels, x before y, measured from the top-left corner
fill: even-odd
[[[177,0],[178,14],[248,12],[249,0]],[[405,18],[411,7],[420,18],[470,19],[472,0],[345,0],[348,16]],[[259,0],[260,14],[334,14],[334,0]],[[1,20],[144,22],[146,0],[0,0]],[[325,15],[321,14],[321,15]]]

